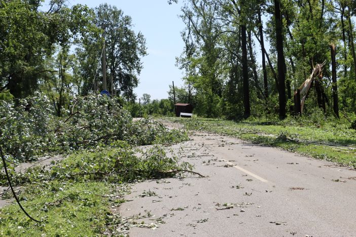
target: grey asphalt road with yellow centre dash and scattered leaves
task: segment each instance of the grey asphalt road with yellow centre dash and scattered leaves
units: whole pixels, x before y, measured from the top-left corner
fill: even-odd
[[[135,184],[120,213],[157,228],[130,236],[356,236],[356,172],[334,163],[195,133],[183,161],[206,176]],[[168,147],[169,148],[169,147]],[[157,196],[139,196],[148,191]]]

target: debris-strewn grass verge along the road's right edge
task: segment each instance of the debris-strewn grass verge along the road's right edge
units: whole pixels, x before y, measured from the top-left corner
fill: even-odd
[[[308,123],[293,120],[273,123],[268,121],[233,122],[200,117],[165,118],[165,120],[181,123],[188,130],[224,134],[356,168],[356,131],[348,129],[346,124],[325,122],[308,125]],[[313,144],[313,142],[332,143],[335,146]]]

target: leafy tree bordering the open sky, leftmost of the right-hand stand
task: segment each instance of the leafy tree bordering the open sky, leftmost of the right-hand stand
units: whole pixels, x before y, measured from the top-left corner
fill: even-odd
[[[197,90],[197,100],[201,102],[200,114],[218,116],[218,106],[223,95],[220,36],[225,32],[217,19],[221,6],[212,0],[187,0],[182,8],[181,18],[186,24],[182,33],[185,52],[180,59],[181,65],[194,68],[190,83]],[[189,71],[189,69],[188,69]]]

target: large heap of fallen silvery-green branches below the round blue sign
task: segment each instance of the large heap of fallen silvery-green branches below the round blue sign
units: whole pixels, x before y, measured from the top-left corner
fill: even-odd
[[[17,105],[13,101],[1,103],[0,142],[13,157],[10,161],[27,161],[47,152],[109,145],[116,140],[147,145],[164,138],[171,142],[187,139],[186,134],[169,131],[150,118],[132,121],[118,100],[107,96],[90,94],[72,98],[62,117],[53,113],[50,101],[40,93],[19,100]]]

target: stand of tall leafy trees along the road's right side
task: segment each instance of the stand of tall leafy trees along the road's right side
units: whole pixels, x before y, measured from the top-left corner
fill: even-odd
[[[305,112],[319,108],[338,116],[338,106],[356,111],[354,1],[182,2],[185,48],[177,63],[196,90],[198,114],[295,114],[294,94],[323,62],[323,73],[312,78]]]

